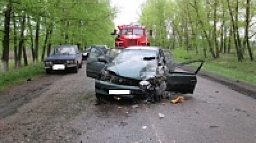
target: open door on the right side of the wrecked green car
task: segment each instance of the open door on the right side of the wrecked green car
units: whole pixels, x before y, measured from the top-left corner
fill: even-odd
[[[166,91],[177,92],[177,93],[194,93],[197,79],[196,74],[203,66],[203,60],[190,60],[176,65],[176,68],[180,68],[184,65],[191,64],[194,62],[200,62],[199,67],[194,73],[188,72],[169,72],[166,74]]]

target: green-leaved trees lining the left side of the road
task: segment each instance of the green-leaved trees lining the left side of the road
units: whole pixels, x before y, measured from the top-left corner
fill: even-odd
[[[78,45],[83,49],[92,44],[114,43],[109,34],[115,16],[110,0],[1,0],[0,14],[5,70],[9,51],[15,52],[15,67],[20,67],[26,49],[38,62],[40,56],[43,59],[49,54],[52,45]],[[26,53],[23,59],[27,59]]]

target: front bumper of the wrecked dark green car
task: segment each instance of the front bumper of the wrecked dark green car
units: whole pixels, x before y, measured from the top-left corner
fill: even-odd
[[[130,94],[109,94],[109,90],[130,90]],[[121,98],[143,97],[143,92],[139,87],[120,85],[100,80],[95,80],[95,92],[103,96],[116,96]]]

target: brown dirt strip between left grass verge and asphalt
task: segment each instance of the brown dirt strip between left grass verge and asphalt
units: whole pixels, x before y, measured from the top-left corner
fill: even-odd
[[[15,113],[21,105],[38,97],[63,75],[41,76],[0,92],[0,119]]]

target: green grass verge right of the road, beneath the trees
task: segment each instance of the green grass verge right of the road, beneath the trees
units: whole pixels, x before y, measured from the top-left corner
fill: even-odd
[[[187,52],[177,48],[172,52],[174,59],[178,62],[203,59],[205,60],[203,69],[208,72],[256,85],[256,61],[249,61],[247,54],[244,55],[245,59],[242,62],[238,62],[235,53],[221,53],[219,59],[212,60],[210,53],[207,53],[208,57],[204,59],[203,53],[196,54],[195,51]]]

